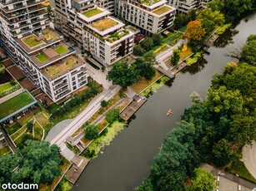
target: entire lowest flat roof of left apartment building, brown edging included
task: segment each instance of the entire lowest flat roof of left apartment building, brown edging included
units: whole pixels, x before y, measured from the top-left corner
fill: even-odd
[[[51,66],[47,66],[42,70],[43,75],[48,78],[48,80],[54,80],[59,76],[63,76],[67,71],[73,70],[78,66],[83,65],[84,61],[77,56],[67,56],[61,61],[56,61]]]

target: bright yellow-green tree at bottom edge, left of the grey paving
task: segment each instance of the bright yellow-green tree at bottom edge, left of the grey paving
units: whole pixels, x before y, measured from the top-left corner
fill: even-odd
[[[207,169],[195,169],[195,177],[192,179],[187,191],[213,191],[215,188],[215,178]]]

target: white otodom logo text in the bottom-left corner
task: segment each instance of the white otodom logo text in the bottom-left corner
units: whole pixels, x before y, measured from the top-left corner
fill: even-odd
[[[20,184],[11,184],[11,183],[8,183],[8,184],[1,184],[1,189],[3,190],[22,190],[22,189],[26,189],[26,190],[38,190],[39,187],[38,187],[38,184],[26,184],[26,183],[20,183]]]

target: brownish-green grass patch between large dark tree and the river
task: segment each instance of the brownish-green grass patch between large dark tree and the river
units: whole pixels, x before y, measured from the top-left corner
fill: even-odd
[[[140,94],[143,90],[145,90],[148,86],[150,86],[154,81],[157,81],[158,78],[160,78],[161,76],[163,76],[163,74],[157,71],[155,76],[153,76],[153,78],[150,81],[148,81],[144,77],[141,77],[136,84],[133,84],[132,86],[133,91],[135,91],[137,94]]]

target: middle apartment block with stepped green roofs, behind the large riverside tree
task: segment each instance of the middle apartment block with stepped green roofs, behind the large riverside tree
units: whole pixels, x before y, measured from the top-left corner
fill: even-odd
[[[55,0],[52,6],[55,28],[103,66],[133,52],[133,32],[93,0]]]

